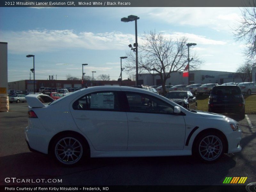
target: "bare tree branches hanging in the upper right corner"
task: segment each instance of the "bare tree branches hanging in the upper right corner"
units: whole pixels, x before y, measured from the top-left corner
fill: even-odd
[[[239,21],[239,26],[234,30],[234,36],[237,41],[244,40],[246,48],[244,54],[255,59],[256,56],[256,0],[253,0],[252,7],[244,7],[242,19]]]

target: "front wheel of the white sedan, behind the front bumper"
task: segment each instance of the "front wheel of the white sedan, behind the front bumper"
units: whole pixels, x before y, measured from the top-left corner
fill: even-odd
[[[195,142],[193,155],[204,163],[213,163],[224,153],[224,139],[216,132],[206,132]]]

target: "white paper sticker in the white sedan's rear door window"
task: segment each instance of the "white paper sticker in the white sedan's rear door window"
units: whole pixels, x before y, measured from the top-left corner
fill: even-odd
[[[92,94],[91,108],[114,109],[114,93]]]

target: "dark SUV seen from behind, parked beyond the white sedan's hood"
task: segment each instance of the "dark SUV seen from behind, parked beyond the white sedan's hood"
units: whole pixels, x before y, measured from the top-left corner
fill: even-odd
[[[244,95],[239,86],[219,85],[212,88],[208,111],[214,113],[235,113],[244,118]]]

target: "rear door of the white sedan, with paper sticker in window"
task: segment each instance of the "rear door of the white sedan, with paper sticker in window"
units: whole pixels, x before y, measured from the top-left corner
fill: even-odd
[[[70,104],[77,127],[98,151],[127,150],[127,116],[118,94],[118,91],[92,92]]]

